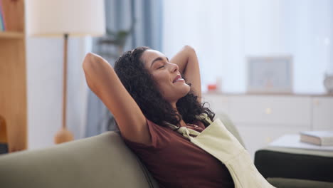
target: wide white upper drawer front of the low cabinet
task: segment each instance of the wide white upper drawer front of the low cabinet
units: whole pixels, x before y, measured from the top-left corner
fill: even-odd
[[[310,98],[289,96],[230,96],[228,115],[239,124],[302,125],[311,124]]]

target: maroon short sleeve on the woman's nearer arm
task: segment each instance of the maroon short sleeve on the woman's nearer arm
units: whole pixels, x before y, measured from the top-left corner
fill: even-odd
[[[169,134],[172,130],[169,127],[162,127],[154,122],[146,119],[149,135],[151,137],[151,142],[149,144],[142,144],[139,142],[133,142],[128,140],[126,137],[122,137],[126,145],[132,150],[159,150],[165,147],[170,142]],[[171,132],[170,132],[171,131]]]

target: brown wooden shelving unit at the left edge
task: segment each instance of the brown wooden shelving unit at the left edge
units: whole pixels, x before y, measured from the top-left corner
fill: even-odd
[[[6,31],[0,32],[0,115],[9,152],[27,148],[26,38],[24,1],[2,1]],[[2,132],[4,133],[4,132]],[[1,140],[1,138],[0,138]]]

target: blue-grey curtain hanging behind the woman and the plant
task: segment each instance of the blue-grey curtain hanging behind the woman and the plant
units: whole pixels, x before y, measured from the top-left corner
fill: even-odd
[[[137,46],[149,46],[162,50],[162,0],[105,0],[106,25],[110,31],[128,30],[134,22],[134,29],[127,38],[123,51]],[[116,46],[102,46],[96,38],[93,51],[114,65],[119,49]],[[113,55],[112,55],[113,54]],[[107,130],[117,130],[115,120],[95,93],[88,90],[88,110],[85,136],[99,135]]]

